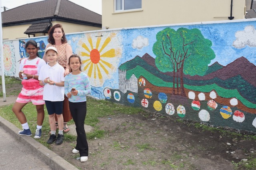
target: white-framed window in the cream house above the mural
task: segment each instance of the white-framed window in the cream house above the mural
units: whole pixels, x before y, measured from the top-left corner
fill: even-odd
[[[142,0],[115,0],[116,11],[134,10],[141,8]]]

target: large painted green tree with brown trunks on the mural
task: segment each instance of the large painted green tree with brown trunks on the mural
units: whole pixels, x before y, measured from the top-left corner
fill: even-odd
[[[199,29],[166,28],[156,34],[153,52],[155,63],[162,72],[173,72],[172,94],[186,96],[183,75],[203,76],[215,58],[212,41]]]

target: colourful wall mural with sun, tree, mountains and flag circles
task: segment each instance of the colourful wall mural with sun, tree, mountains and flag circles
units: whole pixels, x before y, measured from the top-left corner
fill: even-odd
[[[81,56],[93,97],[256,133],[255,21],[116,29],[66,37],[73,52]],[[35,40],[43,55],[47,37]],[[10,63],[23,57],[26,41],[4,41],[5,57],[15,58]],[[10,63],[6,60],[6,70],[12,69],[8,74],[17,75],[18,65]]]

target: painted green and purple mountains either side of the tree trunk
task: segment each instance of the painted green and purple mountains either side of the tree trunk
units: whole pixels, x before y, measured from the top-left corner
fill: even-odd
[[[127,79],[134,74],[154,86],[172,87],[173,73],[158,70],[155,59],[147,53],[121,64],[119,69],[126,70]],[[215,90],[223,98],[237,98],[244,106],[256,109],[256,66],[244,57],[226,66],[214,63],[204,76],[184,75],[184,87],[200,92]]]

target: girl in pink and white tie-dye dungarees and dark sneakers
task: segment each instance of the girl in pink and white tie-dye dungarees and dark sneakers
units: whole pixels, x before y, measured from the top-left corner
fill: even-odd
[[[20,62],[19,76],[22,80],[23,88],[18,95],[16,102],[12,107],[12,111],[20,121],[23,130],[19,131],[19,135],[31,136],[26,116],[22,108],[32,102],[36,105],[37,111],[37,126],[34,138],[39,139],[42,135],[42,124],[44,121],[44,100],[43,100],[43,86],[39,84],[38,75],[40,68],[45,65],[45,61],[38,57],[38,47],[34,40],[29,40],[26,43],[26,52],[29,57]]]

